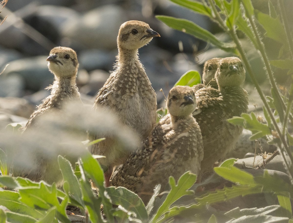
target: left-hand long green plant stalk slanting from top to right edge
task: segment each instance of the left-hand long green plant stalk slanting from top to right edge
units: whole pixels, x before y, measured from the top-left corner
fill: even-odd
[[[218,22],[221,24],[221,26],[225,27],[224,30],[225,30],[227,33],[229,33],[229,35],[231,36],[231,38],[234,40],[234,43],[236,44],[236,47],[237,47],[237,49],[238,49],[238,51],[239,51],[239,53],[240,53],[240,55],[241,55],[241,58],[242,58],[242,60],[243,60],[243,62],[244,62],[244,64],[245,64],[245,66],[246,66],[246,69],[247,69],[247,71],[248,71],[248,74],[249,74],[249,76],[251,77],[251,80],[252,80],[253,84],[255,85],[255,88],[256,88],[256,90],[258,91],[258,94],[260,95],[260,98],[262,99],[263,104],[264,104],[265,108],[267,109],[268,114],[270,115],[270,117],[271,117],[271,119],[272,119],[272,122],[273,122],[273,124],[274,124],[274,126],[275,126],[275,129],[276,129],[276,131],[278,132],[278,134],[279,134],[279,136],[280,136],[280,139],[281,139],[281,141],[282,141],[282,143],[283,143],[283,145],[284,145],[284,148],[285,148],[286,152],[288,153],[288,156],[289,156],[289,158],[290,158],[291,163],[293,163],[293,156],[292,156],[292,153],[291,153],[291,151],[290,151],[290,149],[289,149],[289,146],[287,145],[287,142],[286,142],[285,136],[282,135],[281,130],[280,130],[280,128],[279,128],[279,126],[277,125],[277,122],[276,122],[276,120],[275,120],[275,117],[274,117],[274,115],[272,114],[272,112],[271,112],[271,110],[270,110],[270,107],[269,107],[269,105],[268,105],[268,102],[267,102],[266,99],[265,99],[265,95],[263,94],[263,92],[262,92],[262,90],[261,90],[261,88],[260,88],[260,86],[259,86],[257,80],[255,79],[255,75],[253,74],[252,68],[251,68],[251,66],[250,66],[250,64],[249,64],[249,62],[248,62],[248,60],[247,60],[247,58],[246,58],[245,52],[244,52],[244,50],[243,50],[243,47],[242,47],[242,45],[241,45],[241,43],[240,43],[240,41],[239,41],[239,38],[238,38],[238,36],[237,36],[237,34],[236,34],[235,26],[233,26],[233,29],[230,30],[230,29],[226,26],[226,24],[224,23],[224,21],[222,20],[221,16],[219,15],[219,12],[217,11],[217,9],[216,9],[216,7],[215,7],[214,2],[212,2],[212,0],[209,0],[209,3],[210,3],[210,5],[211,5],[211,7],[212,7],[212,11],[213,11],[214,14],[215,14],[215,18],[218,20]],[[272,80],[274,81],[274,78],[273,78]],[[273,83],[275,84],[275,82],[273,82]],[[277,86],[276,86],[276,89],[277,89]],[[277,92],[279,93],[279,91],[277,91]],[[282,101],[283,101],[283,100],[282,100]],[[281,151],[281,153],[282,153],[282,157],[283,157],[284,160],[285,160],[285,159],[286,159],[286,157],[285,157],[285,151],[283,150],[282,147],[280,147],[280,151]],[[290,167],[290,165],[289,165],[288,162],[285,162],[285,164],[286,164],[286,167],[287,167],[287,169],[288,169],[288,173],[289,173],[289,175],[290,175],[290,178],[291,178],[291,180],[293,181],[293,170],[292,170],[292,168]]]

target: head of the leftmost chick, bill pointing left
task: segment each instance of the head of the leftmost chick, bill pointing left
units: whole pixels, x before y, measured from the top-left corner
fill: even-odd
[[[73,77],[79,67],[76,52],[69,47],[54,47],[46,61],[49,61],[49,70],[57,77]]]

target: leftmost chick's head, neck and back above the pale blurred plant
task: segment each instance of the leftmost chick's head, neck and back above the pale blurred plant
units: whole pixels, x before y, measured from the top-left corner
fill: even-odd
[[[23,131],[33,126],[38,116],[51,109],[61,109],[64,102],[68,100],[81,101],[76,86],[79,67],[76,52],[71,48],[58,46],[50,51],[47,61],[49,70],[54,74],[53,85],[46,88],[51,89],[51,94],[42,101],[38,110],[33,112]]]

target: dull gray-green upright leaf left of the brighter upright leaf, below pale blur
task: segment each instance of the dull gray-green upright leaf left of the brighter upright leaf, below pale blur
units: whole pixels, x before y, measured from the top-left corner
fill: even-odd
[[[70,162],[59,155],[58,163],[61,169],[64,182],[68,182],[70,196],[72,196],[77,202],[79,202],[81,206],[83,206],[84,202],[81,198],[80,185],[76,176],[74,175],[74,171],[71,167]]]

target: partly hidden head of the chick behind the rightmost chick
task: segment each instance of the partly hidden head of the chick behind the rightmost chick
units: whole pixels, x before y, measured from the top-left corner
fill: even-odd
[[[203,67],[203,74],[202,74],[204,85],[211,85],[212,87],[218,86],[215,79],[215,73],[218,69],[218,64],[221,59],[222,58],[212,58],[205,62],[205,65]]]

